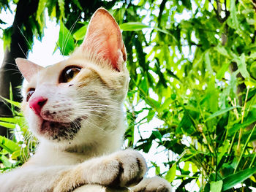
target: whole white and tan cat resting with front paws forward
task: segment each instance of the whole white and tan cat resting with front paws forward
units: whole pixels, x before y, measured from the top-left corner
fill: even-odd
[[[170,191],[159,177],[143,179],[140,153],[120,150],[126,58],[116,21],[100,8],[66,61],[43,68],[16,59],[29,82],[22,110],[39,146],[26,164],[0,175],[1,192]]]

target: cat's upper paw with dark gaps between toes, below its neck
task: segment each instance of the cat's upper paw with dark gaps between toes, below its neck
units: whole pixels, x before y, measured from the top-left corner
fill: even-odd
[[[135,150],[113,153],[98,164],[94,180],[100,185],[127,187],[136,185],[146,173],[146,161]]]

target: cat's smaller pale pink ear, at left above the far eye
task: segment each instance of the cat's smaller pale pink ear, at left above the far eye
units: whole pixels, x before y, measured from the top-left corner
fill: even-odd
[[[34,76],[37,72],[43,69],[42,66],[34,64],[33,62],[26,60],[24,58],[16,58],[15,62],[20,70],[21,74],[25,77],[25,79],[30,82],[31,77]]]

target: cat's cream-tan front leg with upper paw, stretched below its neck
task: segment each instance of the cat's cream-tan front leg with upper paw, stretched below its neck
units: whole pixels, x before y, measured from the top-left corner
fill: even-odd
[[[75,166],[59,177],[54,191],[72,191],[86,184],[128,187],[138,184],[145,173],[143,156],[135,150],[124,150]]]

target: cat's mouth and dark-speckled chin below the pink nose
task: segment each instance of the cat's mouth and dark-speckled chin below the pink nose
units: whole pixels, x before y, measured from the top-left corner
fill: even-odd
[[[72,140],[81,128],[81,121],[84,118],[77,118],[69,123],[62,123],[51,120],[43,120],[40,134],[50,140]]]

